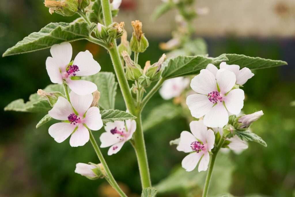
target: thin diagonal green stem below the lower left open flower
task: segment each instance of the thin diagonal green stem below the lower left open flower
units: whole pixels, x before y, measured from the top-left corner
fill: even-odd
[[[102,153],[99,149],[99,146],[97,145],[97,143],[94,139],[94,136],[93,136],[91,130],[89,130],[89,135],[90,135],[91,144],[96,152],[97,157],[99,158],[99,161],[101,162],[102,166],[104,167],[104,170],[106,172],[106,175],[107,175],[110,185],[112,185],[112,187],[120,194],[121,197],[127,197],[127,195],[122,191],[122,189],[119,187],[118,183],[114,179],[108,165],[106,164],[106,160],[104,160],[104,156],[102,155]]]

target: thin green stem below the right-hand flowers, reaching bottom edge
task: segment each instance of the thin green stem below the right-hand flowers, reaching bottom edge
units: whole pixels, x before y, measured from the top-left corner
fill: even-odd
[[[226,140],[226,137],[221,137],[220,138],[217,146],[214,149],[213,155],[211,155],[210,163],[209,163],[209,169],[208,169],[208,172],[207,172],[202,197],[207,197],[207,195],[208,195],[208,190],[209,190],[210,180],[211,180],[211,177],[212,177],[212,171],[213,171],[213,167],[214,167],[214,162],[216,160],[217,153],[220,150],[220,148],[222,147],[225,140]]]

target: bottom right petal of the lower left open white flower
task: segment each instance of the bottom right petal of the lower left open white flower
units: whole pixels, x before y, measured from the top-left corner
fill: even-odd
[[[80,125],[70,138],[72,147],[83,146],[89,141],[89,131],[85,126]]]

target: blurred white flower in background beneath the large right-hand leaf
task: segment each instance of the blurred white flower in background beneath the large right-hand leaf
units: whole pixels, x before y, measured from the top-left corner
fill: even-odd
[[[185,77],[176,77],[166,80],[159,93],[161,97],[165,100],[169,100],[173,97],[178,97],[181,95],[184,89],[189,85],[189,79]]]

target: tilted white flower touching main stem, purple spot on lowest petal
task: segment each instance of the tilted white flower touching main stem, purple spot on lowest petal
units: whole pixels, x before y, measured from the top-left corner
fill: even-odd
[[[108,155],[112,155],[119,152],[124,143],[132,138],[136,130],[136,122],[135,120],[108,122],[104,129],[106,132],[99,137],[101,141],[100,147],[111,146]]]

